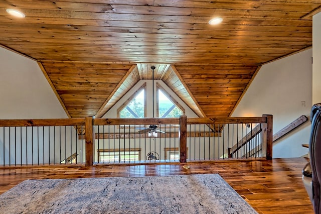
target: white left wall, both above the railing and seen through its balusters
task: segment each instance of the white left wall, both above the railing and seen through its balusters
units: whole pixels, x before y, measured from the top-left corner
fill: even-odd
[[[36,61],[0,47],[0,63],[0,119],[68,118]],[[65,159],[65,156],[69,157],[71,152],[75,152],[74,145],[73,151],[70,151],[72,143],[69,136],[72,134],[74,139],[77,137],[73,127],[70,132],[69,129],[66,132],[64,129],[59,131],[56,127],[56,134],[54,131],[48,134],[49,131],[45,132],[43,129],[47,130],[48,127],[0,129],[0,146],[4,148],[0,156],[5,157],[5,164],[14,164],[15,161],[18,164],[26,164],[28,161],[30,164],[32,161],[36,163],[38,159],[40,163],[59,163],[60,158]],[[51,130],[53,129],[54,127],[51,127]],[[79,151],[79,148],[77,149]],[[27,156],[26,152],[32,150],[34,157],[30,152]],[[43,152],[49,150],[50,157],[43,157]],[[56,157],[53,156],[55,153]],[[3,161],[0,161],[0,165],[4,164]]]

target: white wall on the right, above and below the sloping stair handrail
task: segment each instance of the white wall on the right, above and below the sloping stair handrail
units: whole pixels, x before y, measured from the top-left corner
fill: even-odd
[[[273,133],[301,115],[309,116],[312,106],[312,50],[265,64],[246,91],[232,117],[273,115]],[[314,62],[315,60],[313,60]],[[305,106],[301,105],[305,101]],[[307,153],[310,122],[273,145],[273,158],[300,157]]]

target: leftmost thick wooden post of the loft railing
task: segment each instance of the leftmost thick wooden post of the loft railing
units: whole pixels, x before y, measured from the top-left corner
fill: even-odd
[[[86,133],[85,133],[86,166],[92,166],[94,161],[94,151],[95,151],[95,135],[94,135],[92,117],[86,117],[85,129],[86,129]]]

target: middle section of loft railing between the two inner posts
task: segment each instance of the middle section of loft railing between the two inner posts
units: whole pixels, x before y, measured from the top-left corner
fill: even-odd
[[[157,136],[148,136],[150,125],[157,126]],[[86,153],[86,160],[93,162],[88,162],[87,165],[95,162],[114,164],[178,161],[180,155],[175,158],[175,154],[183,152],[180,149],[181,127],[179,118],[94,119],[92,133],[95,133],[95,143],[88,144],[89,152]]]

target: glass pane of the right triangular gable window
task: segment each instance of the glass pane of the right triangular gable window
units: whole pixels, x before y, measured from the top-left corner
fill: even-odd
[[[160,118],[179,118],[183,112],[158,89],[158,115]]]

